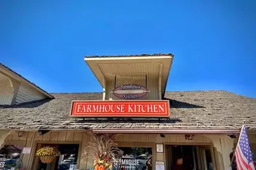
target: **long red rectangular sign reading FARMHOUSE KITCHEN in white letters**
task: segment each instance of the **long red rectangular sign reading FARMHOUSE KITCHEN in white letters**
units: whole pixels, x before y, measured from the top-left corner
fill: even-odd
[[[169,117],[168,100],[73,101],[76,117]]]

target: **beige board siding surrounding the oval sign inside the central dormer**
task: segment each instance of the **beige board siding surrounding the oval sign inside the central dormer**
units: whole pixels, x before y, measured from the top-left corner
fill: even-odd
[[[133,63],[131,65],[124,64],[108,64],[101,65],[107,80],[106,98],[105,100],[125,100],[123,98],[116,97],[114,93],[115,88],[124,84],[138,84],[146,87],[149,92],[138,100],[159,100],[159,70],[162,63]],[[114,71],[119,70],[116,73],[116,81],[114,81]],[[127,74],[133,70],[133,74]],[[145,71],[148,70],[148,71]],[[147,81],[146,81],[147,77]]]

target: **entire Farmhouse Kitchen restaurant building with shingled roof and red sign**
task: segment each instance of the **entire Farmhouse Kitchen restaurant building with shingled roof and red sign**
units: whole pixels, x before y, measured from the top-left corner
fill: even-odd
[[[0,169],[93,169],[91,134],[117,134],[117,169],[230,166],[243,121],[256,156],[256,99],[228,91],[166,91],[173,54],[85,57],[103,93],[47,93],[0,65]],[[86,77],[85,77],[86,78]],[[50,164],[38,149],[60,151]],[[151,158],[151,166],[146,165]]]

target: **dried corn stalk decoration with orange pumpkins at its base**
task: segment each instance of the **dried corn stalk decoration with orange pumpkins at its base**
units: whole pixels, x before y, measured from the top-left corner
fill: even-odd
[[[83,160],[92,158],[94,170],[112,170],[123,152],[117,148],[116,137],[114,134],[92,134],[92,141],[85,148]]]

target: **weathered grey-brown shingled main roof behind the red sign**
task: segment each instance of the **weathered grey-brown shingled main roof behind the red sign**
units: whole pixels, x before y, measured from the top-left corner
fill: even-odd
[[[72,100],[102,100],[102,93],[51,93],[55,99],[0,107],[0,129],[199,128],[256,130],[256,98],[228,91],[166,92],[169,120],[69,117]]]

